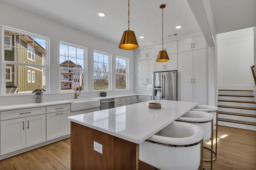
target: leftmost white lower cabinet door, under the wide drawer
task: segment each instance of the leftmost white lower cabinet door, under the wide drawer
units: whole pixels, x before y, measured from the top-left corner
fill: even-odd
[[[1,155],[26,147],[26,118],[1,121]]]

